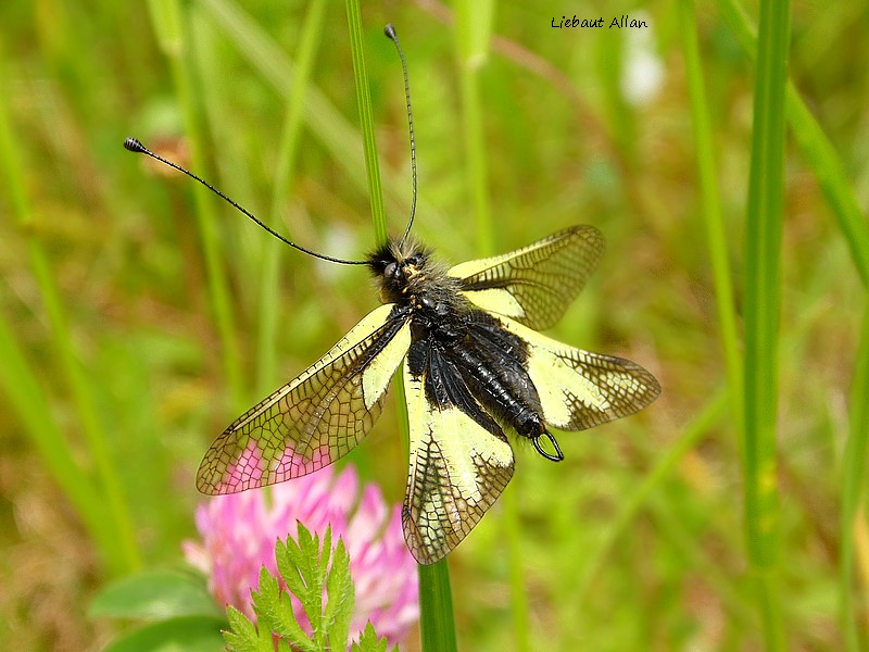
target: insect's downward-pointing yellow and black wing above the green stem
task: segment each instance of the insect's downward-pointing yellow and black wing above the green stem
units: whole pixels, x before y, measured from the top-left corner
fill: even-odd
[[[430,400],[425,383],[405,363],[411,467],[402,522],[416,561],[433,564],[468,535],[507,486],[513,451],[496,424],[493,434],[456,405]]]

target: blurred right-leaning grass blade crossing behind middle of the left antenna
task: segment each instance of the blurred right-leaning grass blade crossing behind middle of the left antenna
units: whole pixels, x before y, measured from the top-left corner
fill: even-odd
[[[311,82],[317,48],[323,38],[323,23],[326,15],[326,1],[314,0],[305,17],[302,37],[297,54],[297,67],[290,84],[287,114],[278,146],[278,162],[272,191],[272,224],[280,224],[281,206],[290,193],[295,178],[295,155],[299,150],[299,135],[302,131],[305,101]],[[256,350],[257,389],[260,393],[270,391],[276,381],[276,359],[278,333],[278,305],[280,305],[279,263],[284,247],[275,243],[266,247],[260,279],[260,323]]]

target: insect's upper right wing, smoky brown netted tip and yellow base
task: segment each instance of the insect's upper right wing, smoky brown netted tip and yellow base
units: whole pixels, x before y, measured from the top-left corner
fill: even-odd
[[[468,261],[448,274],[462,279],[474,303],[542,330],[562,318],[604,251],[593,226],[572,226],[494,258]]]

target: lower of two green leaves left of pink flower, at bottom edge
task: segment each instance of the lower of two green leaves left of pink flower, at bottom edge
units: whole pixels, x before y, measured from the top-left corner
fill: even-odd
[[[115,639],[104,652],[214,652],[223,643],[223,619],[210,616],[171,618]]]

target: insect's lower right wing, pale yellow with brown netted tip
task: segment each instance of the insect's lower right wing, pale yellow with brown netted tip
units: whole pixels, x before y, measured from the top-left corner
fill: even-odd
[[[528,343],[528,375],[551,426],[584,430],[633,414],[660,393],[655,377],[630,360],[575,349],[513,319],[499,321]]]

